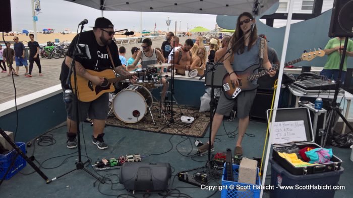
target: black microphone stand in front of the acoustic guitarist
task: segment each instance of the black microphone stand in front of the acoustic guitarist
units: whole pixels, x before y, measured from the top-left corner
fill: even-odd
[[[80,142],[80,125],[79,125],[79,100],[78,100],[78,88],[77,88],[77,74],[76,74],[76,68],[75,68],[75,58],[76,56],[82,56],[84,53],[77,53],[77,45],[79,44],[79,41],[80,41],[80,37],[81,37],[81,33],[82,33],[82,30],[83,30],[83,25],[81,25],[81,31],[80,31],[80,34],[78,35],[78,38],[77,38],[77,42],[75,43],[75,49],[74,49],[74,53],[73,53],[73,57],[72,57],[72,61],[71,61],[71,65],[70,65],[70,70],[69,70],[69,74],[68,74],[68,77],[67,77],[67,80],[66,80],[66,87],[69,87],[69,88],[72,88],[72,82],[70,80],[70,77],[71,77],[71,74],[73,73],[74,75],[74,84],[75,84],[75,87],[76,87],[76,94],[74,94],[74,103],[76,103],[76,108],[74,111],[76,111],[76,130],[77,130],[77,145],[78,145],[78,157],[79,157],[79,160],[78,162],[76,162],[76,168],[73,169],[73,170],[70,170],[60,176],[57,176],[57,177],[54,177],[52,178],[51,180],[48,181],[48,183],[50,183],[51,181],[55,180],[55,179],[58,179],[66,174],[69,174],[70,172],[73,172],[75,170],[84,170],[86,171],[88,174],[92,175],[95,179],[97,179],[98,181],[100,181],[101,183],[104,183],[104,180],[98,178],[96,175],[94,175],[93,173],[89,172],[85,167],[84,165],[88,162],[90,162],[89,159],[87,159],[86,162],[82,162],[81,160],[81,142]]]

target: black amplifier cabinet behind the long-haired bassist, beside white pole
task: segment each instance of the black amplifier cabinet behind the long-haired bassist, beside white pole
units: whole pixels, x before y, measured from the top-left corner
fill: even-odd
[[[273,90],[257,89],[253,107],[250,112],[250,120],[266,122],[266,111],[271,109]]]

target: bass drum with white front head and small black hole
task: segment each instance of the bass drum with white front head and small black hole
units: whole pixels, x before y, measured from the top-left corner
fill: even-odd
[[[135,84],[117,93],[113,99],[113,111],[117,119],[125,123],[137,123],[152,107],[151,92]]]

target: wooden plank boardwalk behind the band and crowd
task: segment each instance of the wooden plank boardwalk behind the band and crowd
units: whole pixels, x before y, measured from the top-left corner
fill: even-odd
[[[190,37],[181,37],[180,43],[185,42],[186,39]],[[161,47],[164,40],[156,40],[152,42],[152,47]],[[125,45],[127,59],[131,55],[131,48],[137,46],[141,49],[141,44],[130,44]],[[61,71],[61,64],[64,59],[46,59],[41,58],[40,63],[42,66],[43,76],[38,75],[38,67],[34,63],[32,70],[32,77],[26,77],[24,73],[26,72],[24,67],[20,67],[19,76],[14,76],[14,81],[16,85],[17,97],[33,93],[44,88],[51,87],[53,85],[60,84],[59,76]],[[15,63],[16,65],[16,63]],[[12,80],[12,76],[8,76],[7,73],[0,73],[0,104],[14,100],[15,99],[15,88]]]

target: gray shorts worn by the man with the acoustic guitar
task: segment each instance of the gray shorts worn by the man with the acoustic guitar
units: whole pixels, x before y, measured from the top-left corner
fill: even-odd
[[[103,93],[96,100],[91,102],[79,101],[79,120],[85,121],[87,116],[90,119],[105,120],[108,116],[109,94]],[[76,103],[65,103],[66,112],[70,120],[76,121]]]

